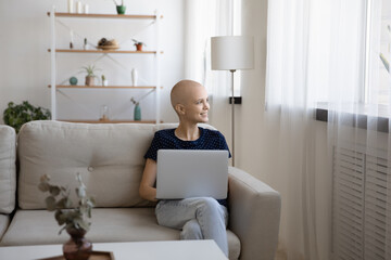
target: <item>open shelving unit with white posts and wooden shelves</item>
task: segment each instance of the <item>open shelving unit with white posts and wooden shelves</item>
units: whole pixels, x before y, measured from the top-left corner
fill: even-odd
[[[89,122],[89,123],[106,123],[106,122],[144,122],[144,123],[159,123],[161,122],[160,116],[160,90],[162,87],[157,88],[156,86],[161,86],[160,82],[160,55],[163,54],[160,51],[159,44],[159,27],[160,20],[163,18],[162,15],[156,12],[154,15],[118,15],[118,14],[78,14],[78,13],[61,13],[55,12],[55,6],[53,6],[52,12],[47,13],[50,17],[51,24],[51,48],[48,49],[51,55],[51,80],[48,88],[51,89],[51,110],[52,110],[52,119],[58,120],[56,118],[56,91],[58,89],[91,89],[91,90],[108,90],[111,89],[128,89],[131,91],[133,89],[151,89],[155,92],[155,120],[142,120],[142,121],[134,121],[134,120],[66,120],[60,119],[62,121],[73,121],[73,122]],[[108,20],[152,20],[155,27],[155,51],[134,51],[134,50],[78,50],[78,49],[58,49],[55,44],[55,20],[60,17],[68,17],[68,18],[108,18]],[[54,50],[54,51],[52,51]],[[154,55],[155,63],[155,86],[67,86],[67,84],[59,84],[56,83],[56,53],[74,53],[74,54],[131,54],[131,55]],[[51,86],[55,86],[55,88],[51,88]]]

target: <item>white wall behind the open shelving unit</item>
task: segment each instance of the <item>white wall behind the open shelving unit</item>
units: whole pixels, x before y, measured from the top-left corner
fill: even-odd
[[[111,0],[83,0],[89,4],[90,13],[115,13],[115,5]],[[127,14],[153,14],[159,10],[164,15],[161,24],[161,49],[164,51],[161,63],[161,83],[164,87],[162,95],[162,107],[168,106],[171,88],[182,78],[184,75],[184,1],[182,0],[125,0]],[[33,105],[50,108],[50,18],[47,12],[52,5],[58,12],[67,11],[65,0],[14,0],[0,1],[0,122],[2,112],[10,101],[21,103],[29,101]],[[130,39],[138,31],[137,26],[146,27],[147,22],[140,21],[92,21],[62,18],[64,24],[73,26],[75,34],[96,43],[102,37],[116,38],[121,42],[130,44]],[[136,25],[135,25],[136,23]],[[150,22],[149,22],[150,23]],[[59,47],[67,48],[70,34],[61,25],[56,24],[56,40]],[[147,28],[136,36],[137,39],[146,41],[147,49],[153,50],[153,29]],[[75,48],[81,46],[83,38],[75,36]],[[150,43],[150,44],[149,44]],[[124,47],[126,46],[124,44]],[[129,47],[131,48],[131,46]],[[112,83],[129,84],[130,68],[137,67],[139,78],[146,79],[144,83],[153,83],[154,75],[150,69],[153,65],[153,56],[137,55],[113,55],[118,57],[129,69],[118,67],[112,61],[105,58],[98,62],[102,70],[98,75],[105,74]],[[80,67],[90,64],[94,54],[56,54],[58,57],[58,82],[70,76],[77,76],[79,84],[84,81],[84,75],[78,74]],[[141,83],[141,82],[140,82]],[[59,118],[97,119],[100,107],[106,104],[111,108],[112,119],[131,119],[133,104],[130,96],[136,99],[147,93],[147,90],[62,90],[73,101],[67,101],[58,94]],[[154,93],[141,102],[142,118],[154,117]],[[175,121],[176,117],[172,109],[162,109],[164,121]]]

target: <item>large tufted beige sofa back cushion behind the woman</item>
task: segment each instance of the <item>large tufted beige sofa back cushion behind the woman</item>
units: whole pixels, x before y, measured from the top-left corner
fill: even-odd
[[[20,207],[46,208],[48,194],[37,187],[42,174],[50,176],[52,183],[67,185],[75,202],[77,172],[88,194],[94,196],[97,207],[149,206],[138,193],[146,164],[143,155],[156,130],[176,126],[60,121],[24,125],[17,146]]]

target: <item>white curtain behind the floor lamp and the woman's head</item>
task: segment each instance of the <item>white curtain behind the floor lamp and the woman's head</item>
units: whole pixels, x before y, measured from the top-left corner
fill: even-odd
[[[211,70],[211,37],[231,34],[232,1],[185,1],[185,78],[201,82],[207,90],[211,102],[210,123],[223,130],[227,142],[230,133],[224,131],[230,123],[227,100],[230,93],[228,72]],[[224,115],[224,116],[216,116]]]

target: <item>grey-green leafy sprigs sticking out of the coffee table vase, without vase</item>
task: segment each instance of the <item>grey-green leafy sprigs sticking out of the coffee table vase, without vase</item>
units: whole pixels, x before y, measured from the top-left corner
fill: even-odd
[[[96,203],[93,197],[87,196],[86,185],[83,183],[80,173],[76,174],[76,179],[79,183],[79,186],[75,188],[79,199],[76,207],[73,207],[73,203],[70,199],[70,190],[50,184],[50,178],[47,174],[40,178],[40,183],[38,184],[38,188],[41,192],[49,192],[50,194],[45,202],[49,211],[55,211],[54,218],[59,225],[62,226],[59,234],[66,229],[89,231],[91,224],[87,221],[87,218],[91,218],[91,209]],[[58,196],[60,197],[56,198]]]

